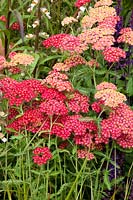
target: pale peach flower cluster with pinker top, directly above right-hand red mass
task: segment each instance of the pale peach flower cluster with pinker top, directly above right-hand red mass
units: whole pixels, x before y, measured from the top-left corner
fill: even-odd
[[[113,84],[106,82],[102,84],[97,86],[98,91],[95,94],[95,99],[103,100],[105,106],[115,108],[127,100],[124,94],[116,91],[116,87]]]

